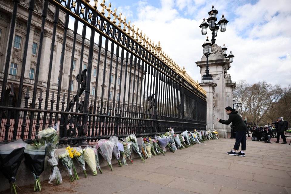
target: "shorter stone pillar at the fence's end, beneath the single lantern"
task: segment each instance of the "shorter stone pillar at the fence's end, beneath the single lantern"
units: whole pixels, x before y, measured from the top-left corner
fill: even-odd
[[[212,80],[202,80],[201,83],[199,83],[201,87],[206,91],[206,98],[207,98],[207,106],[206,106],[206,129],[210,129],[211,131],[214,131],[214,108],[215,108],[215,102],[214,102],[214,92],[215,87],[217,84],[213,82]]]

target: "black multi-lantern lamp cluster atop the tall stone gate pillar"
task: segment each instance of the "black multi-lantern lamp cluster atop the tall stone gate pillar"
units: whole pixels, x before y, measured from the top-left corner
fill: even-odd
[[[209,29],[212,32],[212,39],[211,39],[212,44],[215,44],[215,41],[216,41],[215,37],[217,36],[217,31],[220,29],[220,32],[224,32],[226,30],[226,24],[228,23],[224,15],[222,15],[222,18],[216,24],[215,22],[217,21],[217,18],[216,18],[217,14],[218,14],[218,11],[212,5],[212,9],[208,12],[208,15],[209,15],[207,19],[208,23],[205,22],[205,18],[204,18],[203,22],[199,26],[201,28],[202,35],[207,34],[207,27],[209,26]]]

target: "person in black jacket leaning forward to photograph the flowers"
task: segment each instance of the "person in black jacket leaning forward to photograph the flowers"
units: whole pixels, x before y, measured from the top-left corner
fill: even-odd
[[[243,119],[241,116],[237,114],[237,111],[234,111],[230,106],[225,108],[225,112],[227,115],[229,115],[229,118],[227,121],[218,119],[217,121],[229,125],[232,123],[232,125],[235,125],[236,128],[236,142],[233,146],[233,149],[230,152],[227,152],[229,155],[233,156],[245,156],[245,151],[246,151],[246,131],[248,130],[245,122],[243,122]],[[236,151],[239,149],[240,144],[242,144],[242,150],[238,153]]]

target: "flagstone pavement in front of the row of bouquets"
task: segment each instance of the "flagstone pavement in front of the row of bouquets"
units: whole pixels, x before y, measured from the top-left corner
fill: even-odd
[[[289,140],[290,141],[290,140]],[[288,141],[288,143],[289,143]],[[207,193],[207,194],[291,194],[291,146],[247,140],[246,156],[231,156],[235,139],[210,140],[188,149],[153,156],[143,164],[103,167],[103,174],[79,180],[64,177],[59,186],[42,182],[42,194],[129,194],[129,193]],[[35,193],[33,186],[21,193]]]

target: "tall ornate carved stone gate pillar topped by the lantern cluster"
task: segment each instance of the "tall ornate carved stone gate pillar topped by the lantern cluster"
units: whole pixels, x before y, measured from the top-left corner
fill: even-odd
[[[227,74],[227,70],[230,68],[229,59],[223,55],[221,47],[217,46],[217,44],[212,45],[211,55],[208,57],[208,64],[209,74],[212,75],[213,80],[202,80],[199,83],[207,92],[207,129],[217,130],[219,137],[226,138],[226,132],[230,131],[230,125],[223,125],[217,122],[216,118],[228,119],[228,115],[225,113],[225,107],[232,107],[232,92],[236,84],[232,82],[230,74]],[[206,56],[203,55],[201,61],[197,61],[196,65],[200,67],[202,79],[206,70]],[[216,87],[215,90],[214,87]],[[213,107],[213,111],[209,107]]]

